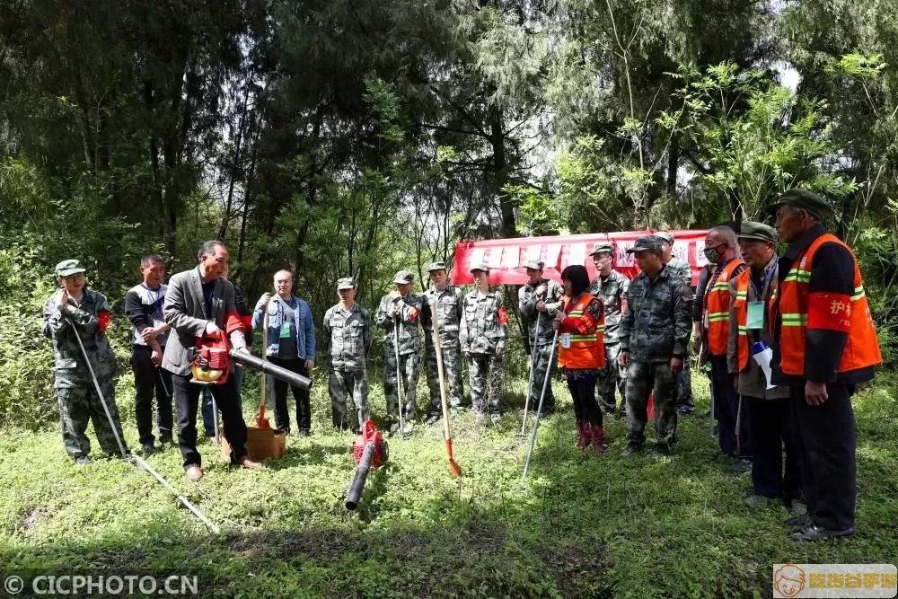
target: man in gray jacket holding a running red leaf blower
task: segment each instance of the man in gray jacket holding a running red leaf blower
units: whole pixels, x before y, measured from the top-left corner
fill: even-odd
[[[234,304],[233,285],[221,278],[228,260],[222,242],[210,241],[199,246],[196,269],[180,272],[169,281],[163,317],[174,334],[165,345],[162,367],[172,373],[172,391],[178,408],[178,445],[189,480],[203,476],[202,458],[197,451],[197,384],[190,383],[197,338],[224,330],[233,348],[246,351],[243,325]],[[246,423],[232,376],[225,383],[211,386],[225,424],[225,439],[231,445],[231,463],[244,468],[260,468],[246,454]]]

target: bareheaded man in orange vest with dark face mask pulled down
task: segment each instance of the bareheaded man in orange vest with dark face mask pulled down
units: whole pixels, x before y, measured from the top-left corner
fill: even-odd
[[[747,418],[739,418],[739,394],[733,384],[733,374],[726,366],[726,346],[729,339],[729,284],[746,267],[737,258],[735,232],[728,226],[711,227],[705,236],[705,258],[714,265],[708,287],[702,298],[702,324],[708,343],[711,363],[711,401],[718,418],[720,451],[735,458],[730,471],[747,472],[752,464],[746,458],[748,448]],[[737,433],[738,425],[738,433]],[[737,438],[737,434],[739,437]]]

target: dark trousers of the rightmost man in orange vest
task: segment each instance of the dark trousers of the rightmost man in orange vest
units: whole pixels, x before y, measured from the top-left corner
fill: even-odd
[[[814,524],[830,529],[854,526],[855,438],[851,395],[854,385],[827,384],[829,399],[809,406],[805,387],[790,387],[792,427],[801,452],[801,480]]]

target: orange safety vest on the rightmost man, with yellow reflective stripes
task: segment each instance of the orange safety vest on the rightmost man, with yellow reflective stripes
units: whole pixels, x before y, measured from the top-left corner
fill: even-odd
[[[811,265],[814,264],[814,253],[823,243],[838,243],[843,248],[850,248],[831,233],[823,233],[811,242],[804,254],[797,256],[786,278],[779,284],[779,317],[782,329],[779,339],[779,353],[783,374],[805,374],[805,338],[808,327],[812,329],[842,330],[848,333],[848,342],[842,351],[838,371],[840,373],[876,366],[882,363],[879,353],[879,341],[876,339],[876,328],[867,305],[867,294],[860,278],[858,260],[851,252],[854,261],[854,294],[846,304],[840,295],[814,294],[808,291],[811,281]],[[770,298],[770,330],[776,323],[776,314],[772,306],[776,294]]]

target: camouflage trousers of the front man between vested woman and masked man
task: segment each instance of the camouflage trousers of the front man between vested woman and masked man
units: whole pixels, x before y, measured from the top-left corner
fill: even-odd
[[[627,439],[629,445],[646,440],[648,396],[655,402],[655,443],[672,448],[676,443],[676,380],[666,362],[634,362],[627,372]]]

